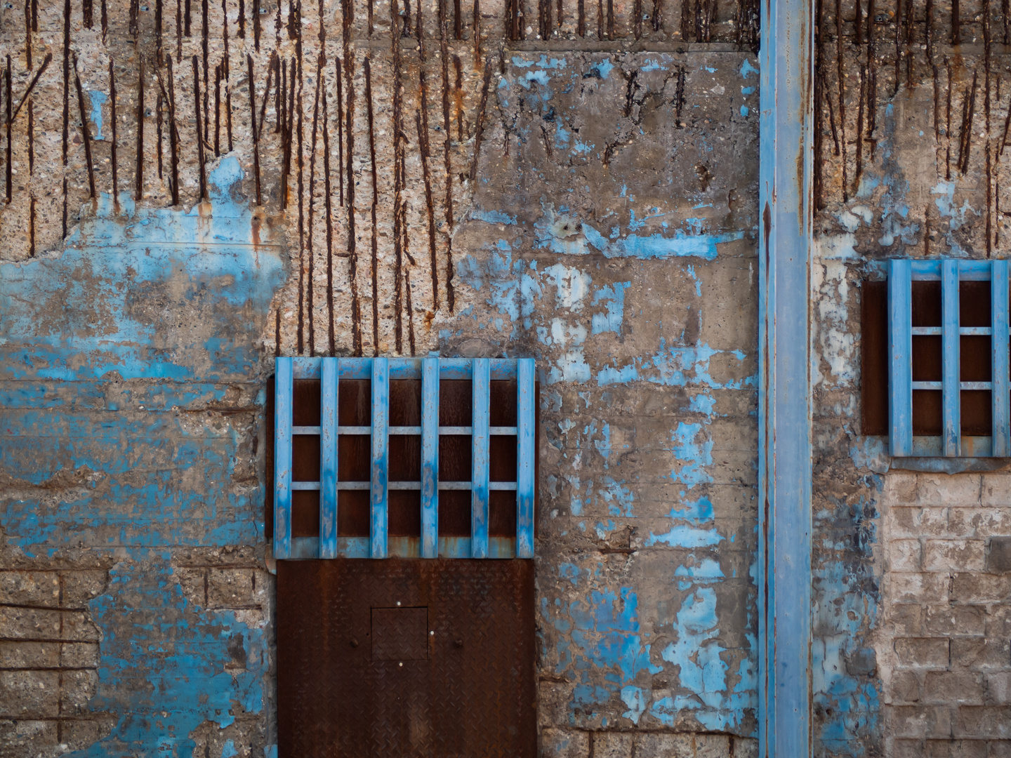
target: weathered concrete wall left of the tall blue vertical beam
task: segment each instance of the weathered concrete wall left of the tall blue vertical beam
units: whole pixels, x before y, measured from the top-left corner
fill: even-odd
[[[538,359],[544,754],[754,750],[756,16],[668,5],[0,11],[5,755],[269,755],[273,357],[430,350]]]

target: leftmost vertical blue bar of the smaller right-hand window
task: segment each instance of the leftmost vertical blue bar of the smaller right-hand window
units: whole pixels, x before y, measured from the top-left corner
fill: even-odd
[[[889,447],[893,456],[913,454],[912,262],[888,263]]]

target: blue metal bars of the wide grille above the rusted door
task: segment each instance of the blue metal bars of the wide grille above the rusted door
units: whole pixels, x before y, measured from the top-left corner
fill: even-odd
[[[386,558],[418,556],[408,542],[388,536],[388,493],[396,489],[421,490],[422,558],[533,558],[535,472],[535,365],[533,359],[445,358],[277,358],[275,359],[274,429],[274,557],[287,558]],[[320,381],[318,427],[293,425],[295,379]],[[338,392],[341,379],[371,379],[371,425],[338,424]],[[421,379],[421,427],[389,425],[391,379]],[[440,379],[468,379],[473,395],[470,427],[439,425]],[[517,425],[490,427],[489,403],[492,380],[517,380]],[[319,481],[292,481],[292,436],[320,438]],[[369,481],[338,479],[338,438],[369,435],[371,459]],[[390,435],[421,436],[421,481],[389,481]],[[440,481],[439,436],[467,435],[471,438],[470,481]],[[516,436],[515,482],[489,481],[489,442],[493,435]],[[291,536],[291,492],[319,490],[319,537]],[[338,536],[338,492],[369,491],[369,537]],[[439,536],[440,490],[470,490],[470,537]],[[516,537],[489,538],[489,490],[515,490]]]

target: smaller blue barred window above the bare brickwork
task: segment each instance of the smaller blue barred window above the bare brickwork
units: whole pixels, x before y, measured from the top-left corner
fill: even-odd
[[[939,283],[939,315],[929,325],[914,317],[920,282],[934,283],[934,291]],[[974,298],[969,292],[983,297]],[[982,316],[977,313],[972,320],[962,316],[980,311],[981,306],[986,311]],[[1008,362],[1007,261],[888,262],[889,448],[893,456],[1011,456]],[[987,424],[991,434],[966,434],[967,404],[975,403],[974,412],[979,415],[976,405],[981,397],[987,405],[983,412],[991,416]],[[938,398],[940,434],[914,436],[915,419]]]

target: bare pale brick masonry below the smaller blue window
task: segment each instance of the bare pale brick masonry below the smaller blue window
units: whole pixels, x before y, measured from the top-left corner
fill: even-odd
[[[892,754],[1011,755],[1011,476],[892,473],[882,504]]]

